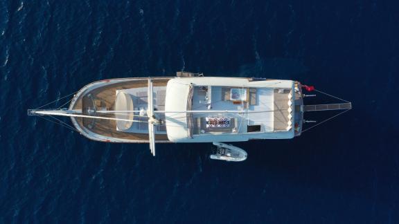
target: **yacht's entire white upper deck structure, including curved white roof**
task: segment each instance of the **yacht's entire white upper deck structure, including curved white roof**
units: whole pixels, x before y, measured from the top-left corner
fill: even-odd
[[[294,82],[237,77],[169,80],[165,121],[172,142],[293,138]]]

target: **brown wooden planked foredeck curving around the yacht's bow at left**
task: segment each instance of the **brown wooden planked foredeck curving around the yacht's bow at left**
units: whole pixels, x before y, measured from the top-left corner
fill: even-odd
[[[170,77],[153,78],[154,86],[166,86]],[[112,83],[115,82],[115,83]],[[85,90],[85,88],[87,88]],[[81,110],[83,114],[91,111],[113,111],[115,109],[116,91],[131,88],[148,88],[148,78],[105,80],[89,84],[72,101],[69,109]],[[163,96],[164,97],[164,96]],[[93,115],[93,114],[91,114]],[[115,118],[114,114],[95,114]],[[132,133],[116,130],[115,120],[93,118],[72,118],[87,138],[106,142],[149,142],[148,133]],[[143,125],[148,125],[145,121]],[[100,138],[104,136],[105,138]],[[156,134],[156,142],[168,142],[166,133]]]

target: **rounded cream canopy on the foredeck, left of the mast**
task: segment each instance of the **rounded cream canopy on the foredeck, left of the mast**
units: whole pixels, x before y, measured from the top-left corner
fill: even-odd
[[[133,100],[129,93],[123,91],[116,91],[115,111],[133,111]],[[116,113],[115,117],[118,119],[133,120],[133,113]],[[118,131],[125,131],[132,127],[132,121],[117,120],[116,128]]]

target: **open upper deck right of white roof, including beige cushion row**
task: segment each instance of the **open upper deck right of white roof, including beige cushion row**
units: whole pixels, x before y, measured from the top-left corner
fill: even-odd
[[[209,93],[211,89],[211,97]],[[233,90],[245,92],[240,100],[231,99]],[[195,111],[210,111],[193,115],[193,134],[247,133],[254,131],[287,131],[290,122],[290,88],[240,88],[224,86],[195,86],[193,108]],[[211,98],[211,100],[209,100]],[[220,113],[212,111],[245,111],[248,113]],[[229,120],[226,127],[206,127],[207,119]],[[209,125],[208,125],[209,126]]]

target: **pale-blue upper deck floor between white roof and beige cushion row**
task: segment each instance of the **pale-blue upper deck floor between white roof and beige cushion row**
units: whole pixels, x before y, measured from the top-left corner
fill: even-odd
[[[193,115],[193,134],[245,133],[248,125],[260,125],[260,131],[273,131],[273,88],[240,88],[234,86],[195,86],[193,110],[209,111],[270,111],[269,113],[224,113],[220,118],[231,119],[229,127],[206,127],[206,118],[213,113]],[[211,100],[209,100],[211,98]],[[204,104],[208,100],[209,104]]]

